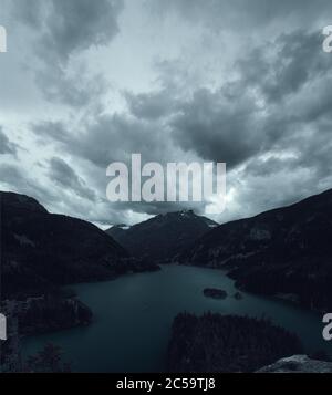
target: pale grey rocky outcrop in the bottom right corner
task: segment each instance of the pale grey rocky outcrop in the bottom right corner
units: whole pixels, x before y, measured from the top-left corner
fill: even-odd
[[[311,360],[307,355],[294,355],[263,367],[257,373],[332,373],[332,363]]]

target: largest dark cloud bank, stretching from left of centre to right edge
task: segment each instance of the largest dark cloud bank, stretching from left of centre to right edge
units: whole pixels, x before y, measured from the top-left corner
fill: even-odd
[[[251,185],[238,186],[239,201],[249,207],[248,214],[288,204],[319,191],[318,180],[332,170],[332,69],[320,39],[319,32],[294,31],[258,44],[238,59],[235,81],[215,90],[193,86],[187,97],[176,95],[177,82],[186,80],[174,65],[160,91],[126,94],[131,115],[97,115],[79,134],[61,123],[37,125],[34,132],[103,169],[101,196],[110,163],[128,163],[132,153],[142,153],[144,162],[179,162],[176,147],[204,160],[226,162],[229,170],[243,166],[241,177]],[[279,193],[272,200],[267,180],[274,176]],[[113,208],[156,215],[184,206],[143,202]],[[204,205],[193,208],[201,212]]]

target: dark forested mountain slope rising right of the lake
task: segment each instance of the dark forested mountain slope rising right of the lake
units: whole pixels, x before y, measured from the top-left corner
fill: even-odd
[[[332,308],[332,190],[289,207],[221,225],[180,257],[185,264],[228,268],[247,291],[312,309]]]

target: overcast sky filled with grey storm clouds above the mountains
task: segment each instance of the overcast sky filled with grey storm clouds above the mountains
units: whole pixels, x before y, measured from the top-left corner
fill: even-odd
[[[106,168],[227,164],[219,222],[332,187],[330,0],[0,0],[0,189],[102,227]]]

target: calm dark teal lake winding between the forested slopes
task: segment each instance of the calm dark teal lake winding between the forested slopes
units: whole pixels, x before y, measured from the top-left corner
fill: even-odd
[[[165,357],[173,319],[183,311],[206,311],[270,318],[295,332],[305,352],[324,350],[332,356],[332,343],[322,337],[322,316],[289,303],[241,292],[234,298],[234,281],[218,270],[163,266],[154,273],[122,277],[115,281],[72,287],[94,313],[87,328],[27,337],[23,354],[54,343],[65,352],[75,372],[144,373],[165,371]],[[226,300],[207,299],[205,288],[228,292]]]

